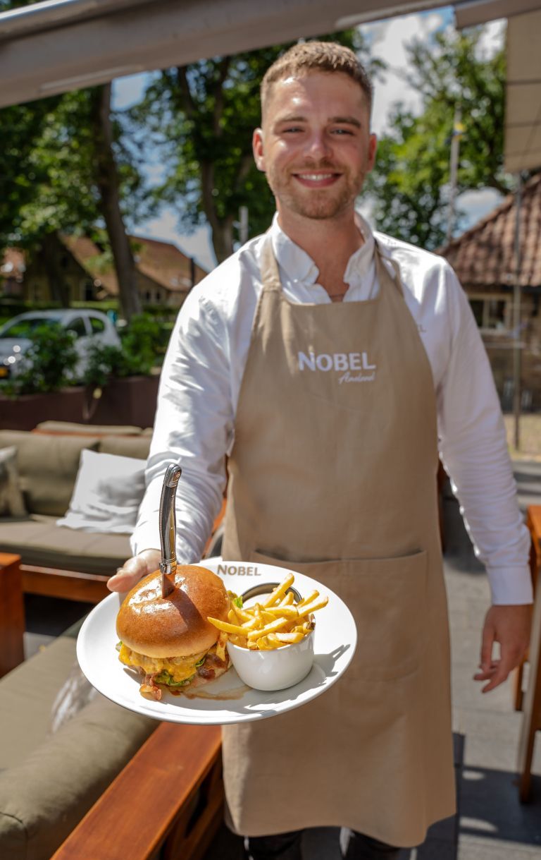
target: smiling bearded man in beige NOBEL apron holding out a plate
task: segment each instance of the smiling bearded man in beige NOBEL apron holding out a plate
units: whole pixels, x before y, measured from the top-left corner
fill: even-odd
[[[371,95],[355,54],[329,43],[295,46],[266,73],[253,152],[277,215],[179,314],[135,555],[110,581],[122,591],[157,568],[171,459],[177,556],[200,558],[228,455],[223,557],[300,570],[350,606],[359,643],[330,691],[224,728],[228,820],[252,860],[298,860],[317,826],[348,828],[349,860],[396,858],[453,814],[439,454],[492,590],[483,692],[528,640],[528,535],[465,294],[446,261],[355,211],[374,165]]]

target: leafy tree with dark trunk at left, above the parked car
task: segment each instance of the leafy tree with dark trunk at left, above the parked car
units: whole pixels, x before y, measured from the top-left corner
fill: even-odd
[[[125,210],[136,218],[143,182],[134,151],[112,116],[111,85],[82,89],[0,111],[0,248],[40,256],[53,298],[68,303],[58,233],[85,233],[111,249],[120,305],[140,313]]]

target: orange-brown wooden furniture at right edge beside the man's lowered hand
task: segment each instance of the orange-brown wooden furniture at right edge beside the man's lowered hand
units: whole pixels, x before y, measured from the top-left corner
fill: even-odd
[[[532,782],[532,757],[536,733],[541,730],[541,587],[539,568],[541,565],[541,505],[528,507],[526,525],[532,535],[530,565],[534,588],[532,637],[530,639],[530,673],[528,687],[520,697],[523,711],[519,740],[519,793],[520,800],[527,802]]]

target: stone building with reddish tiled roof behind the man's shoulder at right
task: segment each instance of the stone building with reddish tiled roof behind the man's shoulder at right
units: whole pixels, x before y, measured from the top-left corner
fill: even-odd
[[[513,396],[516,216],[517,199],[509,194],[439,251],[468,294],[504,408]],[[541,174],[522,189],[519,223],[522,404],[541,408]]]

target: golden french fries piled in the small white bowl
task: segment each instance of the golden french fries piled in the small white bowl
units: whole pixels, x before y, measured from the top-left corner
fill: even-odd
[[[301,642],[313,631],[313,612],[323,609],[329,599],[313,591],[295,604],[293,593],[286,593],[293,581],[293,574],[288,574],[261,603],[252,606],[238,606],[232,601],[227,621],[208,620],[240,648],[271,651]]]

